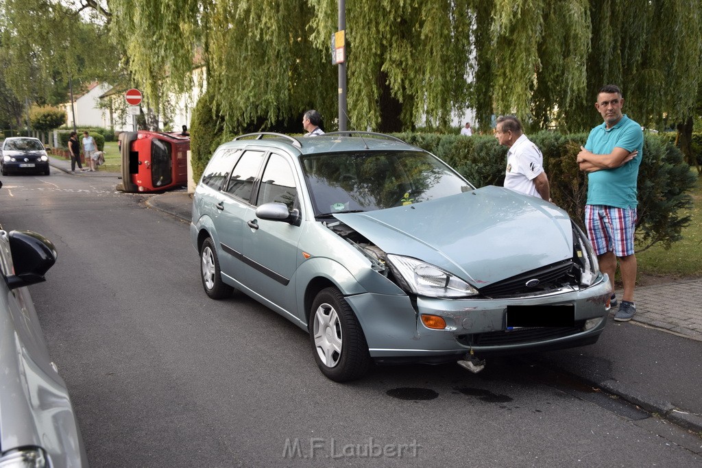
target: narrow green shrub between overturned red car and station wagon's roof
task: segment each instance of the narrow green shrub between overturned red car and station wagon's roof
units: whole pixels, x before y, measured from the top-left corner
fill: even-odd
[[[215,103],[215,93],[208,90],[197,102],[190,121],[192,177],[199,181],[217,147],[225,140],[224,126]]]

